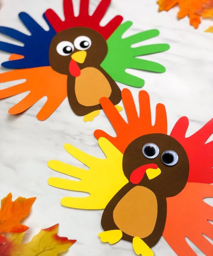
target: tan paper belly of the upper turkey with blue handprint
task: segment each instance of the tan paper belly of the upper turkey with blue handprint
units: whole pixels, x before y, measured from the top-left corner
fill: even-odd
[[[81,75],[75,80],[76,98],[83,106],[98,105],[100,98],[109,98],[111,91],[107,78],[96,68],[82,69]]]

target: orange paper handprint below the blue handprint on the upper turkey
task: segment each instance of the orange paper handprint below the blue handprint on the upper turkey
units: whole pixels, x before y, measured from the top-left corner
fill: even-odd
[[[0,82],[19,79],[26,79],[26,82],[0,90],[0,99],[30,91],[23,100],[9,109],[10,114],[22,113],[47,96],[47,101],[37,114],[37,118],[43,121],[59,107],[67,96],[66,76],[58,74],[50,66],[13,70],[0,74]]]

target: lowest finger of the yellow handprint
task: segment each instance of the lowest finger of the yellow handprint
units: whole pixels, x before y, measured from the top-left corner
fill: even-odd
[[[101,210],[106,207],[107,203],[102,198],[95,200],[91,195],[88,197],[64,197],[61,199],[63,206],[76,209]]]

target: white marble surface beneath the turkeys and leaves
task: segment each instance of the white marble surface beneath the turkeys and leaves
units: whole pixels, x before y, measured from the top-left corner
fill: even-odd
[[[99,0],[91,0],[91,11],[98,2]],[[77,11],[78,0],[74,0],[74,3]],[[46,24],[42,14],[48,7],[57,10],[62,17],[62,0],[1,0],[1,4],[0,24],[23,32],[27,30],[18,19],[20,11],[28,12],[44,27]],[[166,73],[131,72],[146,80],[143,89],[151,95],[153,120],[156,103],[164,103],[169,132],[177,119],[186,115],[190,119],[187,134],[191,134],[212,118],[213,34],[203,32],[212,22],[203,21],[198,30],[195,30],[189,26],[188,18],[177,20],[177,11],[178,8],[175,7],[168,13],[159,13],[155,0],[112,0],[104,21],[116,14],[133,21],[133,26],[126,35],[152,28],[160,30],[160,36],[149,43],[165,42],[171,48],[165,53],[147,58],[165,65]],[[1,52],[0,62],[6,61],[8,56],[9,54]],[[0,71],[5,72],[6,69],[0,68]],[[0,86],[6,87],[5,84]],[[127,87],[121,84],[119,86],[121,89]],[[130,89],[137,101],[138,89]],[[97,234],[102,231],[102,210],[86,211],[62,207],[60,199],[76,195],[77,192],[59,190],[47,184],[50,176],[61,176],[47,167],[48,160],[58,159],[81,166],[66,153],[64,143],[73,144],[95,156],[103,156],[93,137],[93,131],[104,128],[107,132],[114,133],[103,112],[94,122],[83,123],[82,117],[72,113],[66,99],[49,119],[40,122],[35,116],[45,102],[43,98],[25,113],[10,116],[8,109],[24,95],[0,101],[0,198],[9,192],[12,192],[14,199],[18,196],[37,197],[31,214],[24,221],[24,224],[31,227],[26,232],[27,240],[41,228],[60,223],[59,235],[77,239],[67,256],[134,255],[129,242],[120,241],[111,246],[99,241]],[[163,238],[153,250],[157,256],[175,255]],[[203,255],[198,249],[195,250],[197,255]]]

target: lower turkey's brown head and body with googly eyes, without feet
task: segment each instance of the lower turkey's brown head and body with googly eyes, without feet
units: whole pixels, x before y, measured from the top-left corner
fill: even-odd
[[[143,135],[126,148],[123,170],[129,183],[104,209],[102,227],[119,229],[123,240],[132,242],[138,237],[152,247],[164,230],[166,198],[176,196],[186,185],[186,152],[168,135]]]

